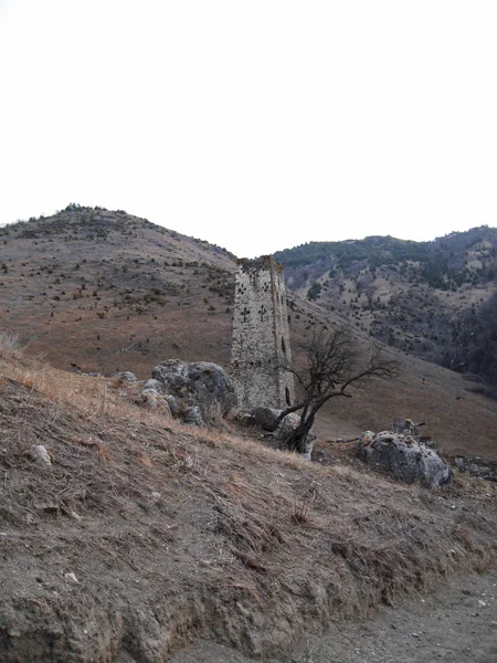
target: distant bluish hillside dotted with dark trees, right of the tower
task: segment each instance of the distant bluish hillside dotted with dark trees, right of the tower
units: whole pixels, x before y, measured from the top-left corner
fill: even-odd
[[[275,257],[294,292],[372,338],[497,386],[497,229],[311,242]]]

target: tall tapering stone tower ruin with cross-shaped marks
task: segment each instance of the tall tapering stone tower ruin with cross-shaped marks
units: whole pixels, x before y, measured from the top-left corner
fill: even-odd
[[[239,261],[231,376],[239,407],[285,409],[295,403],[283,266],[269,255]]]

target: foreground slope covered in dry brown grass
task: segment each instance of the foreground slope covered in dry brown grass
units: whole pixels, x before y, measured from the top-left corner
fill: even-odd
[[[195,635],[277,656],[495,555],[495,484],[429,492],[305,463],[229,422],[181,427],[113,379],[23,356],[12,335],[0,469],[6,662],[152,663]]]

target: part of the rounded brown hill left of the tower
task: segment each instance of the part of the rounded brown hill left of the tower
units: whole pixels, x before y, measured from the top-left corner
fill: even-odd
[[[233,270],[234,256],[201,240],[68,206],[0,229],[0,318],[66,370],[142,375],[199,354],[226,365]]]

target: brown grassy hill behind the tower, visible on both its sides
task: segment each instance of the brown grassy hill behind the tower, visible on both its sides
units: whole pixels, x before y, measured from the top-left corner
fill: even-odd
[[[0,232],[0,327],[20,336],[27,356],[63,370],[131,370],[142,379],[169,358],[229,367],[235,259],[225,250],[123,211],[78,206]],[[370,347],[353,316],[297,293],[289,308],[297,360],[302,340],[331,323],[351,324],[358,345]],[[480,386],[393,346],[389,351],[401,377],[321,412],[320,439],[353,438],[412,417],[426,421],[426,434],[451,453],[497,460],[497,406],[475,392]]]

